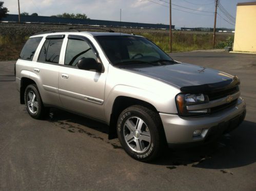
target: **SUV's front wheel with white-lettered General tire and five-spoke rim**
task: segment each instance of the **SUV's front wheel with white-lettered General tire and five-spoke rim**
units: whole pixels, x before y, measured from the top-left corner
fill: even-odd
[[[120,114],[116,128],[119,141],[132,158],[149,162],[161,156],[166,139],[156,112],[132,105]]]

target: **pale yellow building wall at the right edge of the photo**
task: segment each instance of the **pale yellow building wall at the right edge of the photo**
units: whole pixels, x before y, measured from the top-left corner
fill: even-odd
[[[256,2],[237,5],[233,51],[256,53]]]

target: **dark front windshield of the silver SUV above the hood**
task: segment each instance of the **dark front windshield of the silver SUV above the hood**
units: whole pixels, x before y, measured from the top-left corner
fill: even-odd
[[[138,36],[96,36],[112,65],[174,62],[151,41]]]

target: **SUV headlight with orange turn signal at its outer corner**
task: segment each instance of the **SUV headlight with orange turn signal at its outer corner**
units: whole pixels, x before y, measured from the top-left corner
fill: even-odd
[[[204,94],[178,94],[176,96],[176,105],[180,116],[203,115],[209,113],[209,109],[188,111],[188,105],[208,103],[209,98]]]

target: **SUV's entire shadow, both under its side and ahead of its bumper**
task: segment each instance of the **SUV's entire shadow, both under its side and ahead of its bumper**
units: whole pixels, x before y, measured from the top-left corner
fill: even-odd
[[[48,120],[54,122],[70,133],[84,133],[92,138],[99,135],[86,131],[85,127],[108,134],[108,125],[89,118],[78,116],[63,110],[51,109]],[[245,166],[256,162],[256,123],[243,121],[238,129],[226,134],[217,142],[191,148],[167,149],[164,155],[151,164],[164,165],[169,169],[178,166],[192,166],[198,168],[224,169]],[[106,137],[104,142],[110,143]],[[115,141],[116,142],[116,141]],[[113,148],[122,148],[119,142],[112,144]]]

